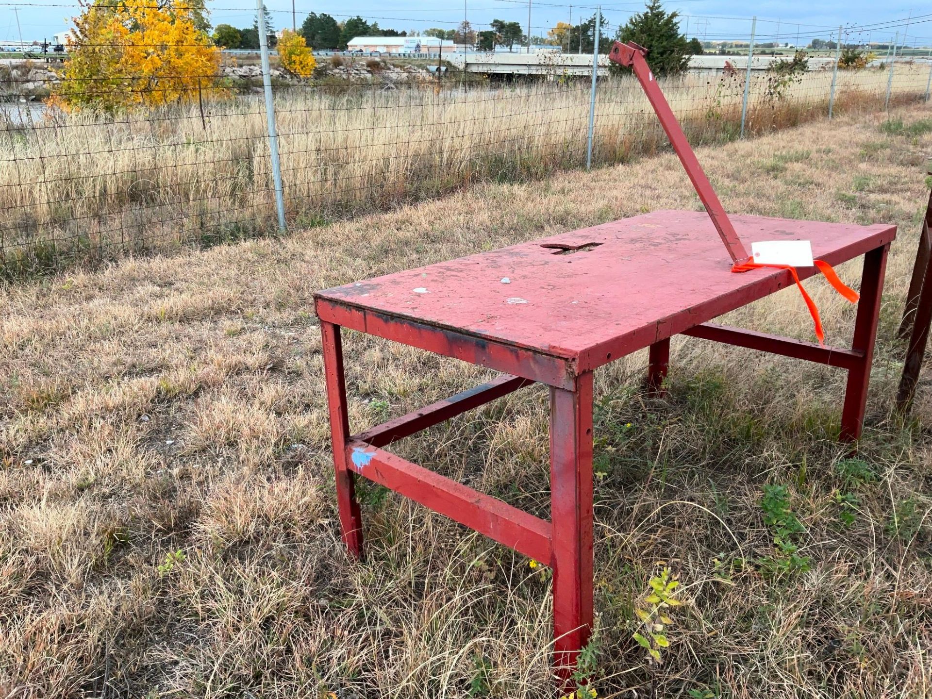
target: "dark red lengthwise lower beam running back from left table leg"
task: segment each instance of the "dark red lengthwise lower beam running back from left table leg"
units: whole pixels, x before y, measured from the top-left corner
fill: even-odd
[[[506,374],[481,386],[476,386],[469,391],[461,391],[442,401],[422,407],[413,413],[403,415],[401,418],[383,422],[365,432],[353,435],[350,439],[373,446],[390,445],[392,442],[426,430],[438,422],[455,418],[467,410],[490,403],[532,383],[534,381],[529,378],[513,377]]]

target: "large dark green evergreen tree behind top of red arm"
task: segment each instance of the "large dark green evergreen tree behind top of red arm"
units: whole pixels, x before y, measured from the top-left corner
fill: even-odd
[[[647,48],[647,62],[654,75],[677,75],[686,70],[691,54],[689,42],[679,34],[678,17],[678,12],[667,12],[660,0],[651,0],[643,12],[632,15],[618,30],[617,38]],[[618,70],[629,70],[612,65]]]

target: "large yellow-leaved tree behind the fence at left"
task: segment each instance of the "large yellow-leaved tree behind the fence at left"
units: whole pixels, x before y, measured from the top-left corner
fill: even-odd
[[[220,49],[185,3],[96,2],[75,18],[68,61],[49,102],[115,112],[216,96]]]

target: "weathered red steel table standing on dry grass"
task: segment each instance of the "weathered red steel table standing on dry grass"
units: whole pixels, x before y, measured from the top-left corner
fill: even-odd
[[[315,295],[321,319],[343,541],[363,551],[353,496],[369,478],[553,569],[555,665],[569,677],[593,622],[593,372],[650,348],[648,381],[666,374],[670,337],[687,335],[825,363],[848,372],[841,434],[857,439],[895,226],[735,216],[751,240],[812,240],[838,265],[865,255],[851,349],[708,324],[792,286],[785,269],[732,273],[705,212],[653,212],[501,250],[418,267]],[[802,279],[814,267],[799,269]],[[793,292],[795,293],[795,292]],[[503,376],[350,434],[340,328],[384,337]],[[533,382],[550,387],[551,516],[544,520],[384,447]]]

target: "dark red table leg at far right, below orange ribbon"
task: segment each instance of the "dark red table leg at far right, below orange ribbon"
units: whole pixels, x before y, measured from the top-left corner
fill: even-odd
[[[842,408],[842,432],[840,438],[856,441],[864,425],[864,408],[868,399],[870,362],[873,359],[874,339],[877,336],[877,321],[880,315],[881,295],[884,291],[884,270],[889,244],[871,250],[864,255],[864,270],[861,273],[860,300],[857,302],[855,336],[851,349],[861,353],[860,361],[848,370],[848,384],[844,392]]]

